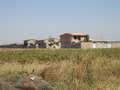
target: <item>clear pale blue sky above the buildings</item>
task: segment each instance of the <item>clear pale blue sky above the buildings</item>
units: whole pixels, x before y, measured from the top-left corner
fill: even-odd
[[[0,44],[64,33],[120,41],[120,0],[0,0]]]

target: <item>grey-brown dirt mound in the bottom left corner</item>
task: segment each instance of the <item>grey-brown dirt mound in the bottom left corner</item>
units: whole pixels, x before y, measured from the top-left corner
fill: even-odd
[[[55,90],[42,77],[32,74],[0,77],[0,90]]]

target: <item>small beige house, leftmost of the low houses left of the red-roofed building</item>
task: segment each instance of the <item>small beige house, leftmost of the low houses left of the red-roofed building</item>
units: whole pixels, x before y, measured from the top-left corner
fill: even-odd
[[[36,48],[36,41],[35,39],[24,40],[24,48]]]

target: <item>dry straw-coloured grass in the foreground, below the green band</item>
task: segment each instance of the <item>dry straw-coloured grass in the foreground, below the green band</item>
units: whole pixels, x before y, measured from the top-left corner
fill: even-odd
[[[120,62],[85,59],[22,65],[4,63],[0,75],[31,73],[40,75],[56,90],[119,90]]]

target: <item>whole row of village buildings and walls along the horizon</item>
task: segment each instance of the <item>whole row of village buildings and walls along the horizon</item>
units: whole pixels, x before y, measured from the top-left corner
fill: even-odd
[[[43,40],[28,39],[23,44],[3,44],[0,48],[120,48],[120,41],[96,40],[90,39],[88,34],[71,34],[64,33],[60,39],[48,38]]]

